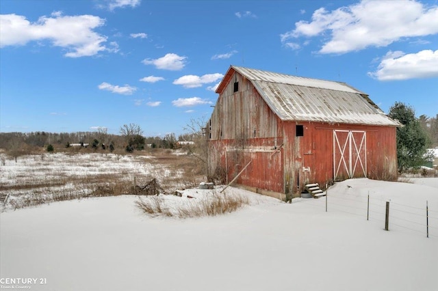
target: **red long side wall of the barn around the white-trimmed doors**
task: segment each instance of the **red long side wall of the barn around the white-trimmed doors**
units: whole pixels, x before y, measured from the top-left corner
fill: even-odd
[[[304,128],[304,135],[296,137],[296,125]],[[315,122],[283,122],[285,135],[285,181],[289,188],[298,196],[304,185],[333,182],[335,178],[333,161],[333,131],[353,131],[357,139],[361,137],[356,132],[366,133],[366,151],[363,145],[361,158],[366,161],[363,165],[365,174],[359,163],[356,165],[354,178],[368,177],[376,180],[396,180],[397,150],[396,128],[393,126],[368,126],[357,124],[324,124]],[[354,147],[354,146],[353,146]],[[359,144],[357,145],[359,151]],[[347,152],[347,151],[346,151]],[[357,160],[355,151],[352,152],[353,164]],[[347,174],[340,174],[348,178]],[[339,180],[342,180],[339,178]]]

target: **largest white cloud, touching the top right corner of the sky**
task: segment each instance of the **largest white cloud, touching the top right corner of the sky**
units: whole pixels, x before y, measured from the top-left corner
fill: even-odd
[[[330,32],[320,53],[348,53],[438,33],[438,7],[426,8],[417,1],[363,0],[331,12],[320,8],[313,12],[311,22],[300,20],[295,27],[281,34],[281,42]]]

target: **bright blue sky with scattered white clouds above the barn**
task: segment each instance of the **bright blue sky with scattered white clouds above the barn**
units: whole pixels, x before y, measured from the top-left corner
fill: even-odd
[[[230,65],[438,114],[438,1],[0,1],[0,131],[208,120]]]

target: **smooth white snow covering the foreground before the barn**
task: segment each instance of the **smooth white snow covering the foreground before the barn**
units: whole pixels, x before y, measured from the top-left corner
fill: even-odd
[[[227,195],[251,203],[217,217],[151,218],[129,195],[8,210],[0,214],[1,288],[438,290],[438,179],[412,182],[339,182],[328,212],[324,197],[285,204],[231,187]],[[4,283],[18,278],[38,280]]]

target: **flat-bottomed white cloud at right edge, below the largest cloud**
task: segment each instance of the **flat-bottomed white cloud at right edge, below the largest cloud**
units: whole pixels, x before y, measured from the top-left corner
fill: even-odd
[[[406,55],[390,51],[383,57],[376,72],[368,72],[368,75],[380,81],[438,77],[438,50]]]

